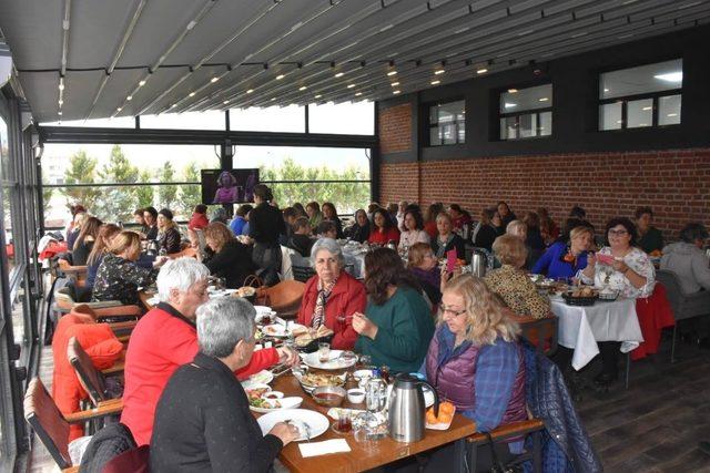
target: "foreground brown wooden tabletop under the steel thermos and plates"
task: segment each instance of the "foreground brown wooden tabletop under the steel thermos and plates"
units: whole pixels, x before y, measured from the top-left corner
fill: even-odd
[[[327,417],[326,412],[328,411],[328,408],[316,404],[313,398],[303,391],[298,381],[291,373],[276,378],[272,383],[272,387],[276,391],[284,392],[287,397],[302,397],[303,404],[301,405],[301,409],[317,411]],[[364,403],[351,404],[347,400],[343,402],[342,407],[365,409]],[[328,420],[331,423],[334,422],[331,418],[328,418]],[[362,472],[445,445],[447,443],[464,441],[467,436],[474,434],[476,428],[470,420],[460,414],[456,414],[452,422],[452,426],[448,430],[438,431],[427,429],[425,431],[424,439],[418,442],[402,443],[387,436],[379,441],[369,442],[367,444],[368,446],[364,446],[363,443],[355,441],[353,433],[337,434],[333,432],[332,429],[328,429],[323,435],[314,439],[313,442],[344,438],[352,449],[351,452],[304,459],[301,455],[301,450],[298,449],[298,443],[301,442],[292,442],[283,449],[280,460],[292,472]],[[374,446],[372,446],[373,444]]]

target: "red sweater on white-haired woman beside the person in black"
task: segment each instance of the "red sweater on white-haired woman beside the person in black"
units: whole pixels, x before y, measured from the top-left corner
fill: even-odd
[[[123,422],[140,445],[149,444],[158,400],[168,380],[199,351],[197,330],[187,319],[170,313],[172,307],[159,304],[138,322],[125,353]],[[250,363],[235,374],[240,379],[278,361],[276,349],[255,351]]]

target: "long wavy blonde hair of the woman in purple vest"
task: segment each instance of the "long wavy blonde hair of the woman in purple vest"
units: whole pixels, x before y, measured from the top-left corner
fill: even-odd
[[[457,276],[447,282],[446,292],[464,298],[466,340],[476,346],[494,345],[498,337],[505,341],[517,340],[520,327],[510,319],[509,309],[483,279],[470,274]],[[443,322],[444,311],[439,309],[437,323]]]

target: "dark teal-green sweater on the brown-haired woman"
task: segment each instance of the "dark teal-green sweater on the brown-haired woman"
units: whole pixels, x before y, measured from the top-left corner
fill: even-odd
[[[365,313],[377,326],[377,335],[374,340],[359,336],[355,351],[392,371],[417,371],[434,335],[434,317],[424,298],[414,289],[398,288],[382,306],[368,302]]]

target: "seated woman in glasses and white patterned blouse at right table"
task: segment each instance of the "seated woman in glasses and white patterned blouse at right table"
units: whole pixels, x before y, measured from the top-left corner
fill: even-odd
[[[636,226],[626,217],[607,223],[609,246],[597,255],[587,257],[587,267],[578,273],[581,281],[618,290],[625,298],[646,298],[653,292],[656,271],[648,255],[636,248]],[[601,341],[601,372],[595,379],[598,384],[609,384],[618,377],[620,342]]]

